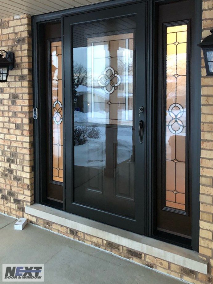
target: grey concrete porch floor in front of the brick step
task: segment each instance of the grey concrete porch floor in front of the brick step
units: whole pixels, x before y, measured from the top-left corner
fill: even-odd
[[[16,219],[0,214],[0,282],[2,264],[29,263],[44,264],[45,284],[182,283],[31,224],[27,224],[22,231],[14,230],[15,222]]]

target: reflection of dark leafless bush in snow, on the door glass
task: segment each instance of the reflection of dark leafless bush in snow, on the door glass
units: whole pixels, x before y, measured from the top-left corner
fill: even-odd
[[[85,144],[87,138],[99,139],[100,129],[94,126],[74,127],[74,146]]]

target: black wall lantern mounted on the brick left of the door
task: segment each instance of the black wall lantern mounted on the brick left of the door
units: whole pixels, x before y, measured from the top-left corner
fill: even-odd
[[[5,57],[0,53],[0,82],[6,82],[9,70],[14,68],[14,53],[3,49],[0,51],[6,53]]]

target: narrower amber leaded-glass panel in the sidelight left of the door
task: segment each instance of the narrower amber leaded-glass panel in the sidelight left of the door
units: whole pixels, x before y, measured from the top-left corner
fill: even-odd
[[[63,182],[61,41],[51,43],[52,180]]]

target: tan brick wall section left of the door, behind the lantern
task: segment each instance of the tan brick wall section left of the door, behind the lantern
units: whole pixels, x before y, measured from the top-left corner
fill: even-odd
[[[31,18],[0,20],[0,49],[13,51],[15,68],[0,83],[0,211],[23,216],[33,202]]]

